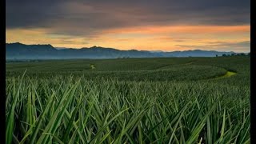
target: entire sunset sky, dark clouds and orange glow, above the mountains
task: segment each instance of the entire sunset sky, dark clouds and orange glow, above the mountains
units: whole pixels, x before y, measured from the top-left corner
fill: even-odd
[[[6,42],[249,52],[250,0],[8,0]]]

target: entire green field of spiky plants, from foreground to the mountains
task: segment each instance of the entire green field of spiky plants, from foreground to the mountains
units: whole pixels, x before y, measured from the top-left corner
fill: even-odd
[[[250,143],[250,58],[6,63],[11,142]]]

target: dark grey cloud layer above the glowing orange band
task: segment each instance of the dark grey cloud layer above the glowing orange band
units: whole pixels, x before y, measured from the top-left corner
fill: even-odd
[[[53,33],[152,25],[250,25],[250,0],[6,1],[6,28]]]

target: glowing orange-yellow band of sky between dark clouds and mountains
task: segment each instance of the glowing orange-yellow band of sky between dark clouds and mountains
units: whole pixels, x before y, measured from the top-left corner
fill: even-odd
[[[206,46],[209,42],[250,41],[250,26],[139,26],[97,31],[95,37],[87,34],[50,34],[51,31],[54,30],[10,29],[6,30],[6,42],[72,48],[103,46],[120,50],[171,51],[190,49],[181,46]]]

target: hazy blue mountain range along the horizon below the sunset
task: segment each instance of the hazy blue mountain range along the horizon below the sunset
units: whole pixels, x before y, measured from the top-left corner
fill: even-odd
[[[51,45],[24,45],[22,43],[6,43],[6,59],[67,59],[67,58],[156,58],[156,57],[215,57],[216,54],[234,54],[214,50],[185,50],[185,51],[146,51],[146,50],[117,50],[93,46],[90,48],[54,48]]]

